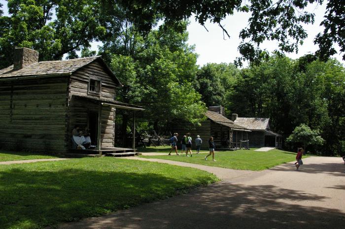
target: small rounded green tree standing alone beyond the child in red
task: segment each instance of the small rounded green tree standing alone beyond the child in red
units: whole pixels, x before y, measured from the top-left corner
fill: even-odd
[[[319,131],[311,130],[307,125],[301,124],[286,138],[286,142],[291,144],[302,143],[305,152],[307,152],[308,146],[324,143],[324,139],[319,134]]]

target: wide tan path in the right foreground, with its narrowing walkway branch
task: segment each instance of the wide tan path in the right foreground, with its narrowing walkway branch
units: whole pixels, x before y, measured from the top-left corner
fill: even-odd
[[[137,158],[138,159],[138,158]],[[345,165],[339,158],[311,157],[300,170],[283,164],[260,172],[197,167],[222,182],[61,229],[334,229],[345,225]]]

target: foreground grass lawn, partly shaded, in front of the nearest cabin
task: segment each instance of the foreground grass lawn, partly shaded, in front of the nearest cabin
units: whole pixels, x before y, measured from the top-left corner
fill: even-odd
[[[54,226],[217,180],[198,169],[116,158],[0,165],[0,228]]]

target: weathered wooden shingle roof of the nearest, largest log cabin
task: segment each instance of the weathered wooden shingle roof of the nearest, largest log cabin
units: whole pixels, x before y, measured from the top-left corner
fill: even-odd
[[[13,70],[13,65],[11,65],[9,67],[0,69],[0,79],[11,79],[18,77],[24,78],[29,76],[40,77],[48,75],[68,75],[95,60],[101,60],[101,62],[104,64],[104,67],[108,70],[109,74],[111,74],[114,77],[114,80],[121,85],[115,74],[104,63],[101,56],[77,58],[63,61],[41,61],[18,70]]]

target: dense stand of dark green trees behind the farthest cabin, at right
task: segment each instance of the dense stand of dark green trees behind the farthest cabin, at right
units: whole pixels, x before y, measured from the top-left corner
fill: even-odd
[[[216,66],[207,64],[201,72],[217,69]],[[220,81],[221,75],[231,82],[226,88],[222,87],[224,83],[219,84],[219,90],[225,91],[219,97],[209,95],[208,100],[205,99],[208,103],[211,98],[221,98],[228,117],[231,113],[240,117],[269,117],[272,130],[284,137],[305,124],[319,130],[325,140],[324,145],[318,147],[320,152],[345,153],[345,68],[338,61],[322,62],[313,55],[297,60],[273,55],[260,65],[227,74],[226,71],[221,71],[222,74],[215,70],[207,72],[212,72],[215,82]],[[199,74],[198,80],[207,81],[209,75]],[[204,97],[208,91],[200,93]]]

